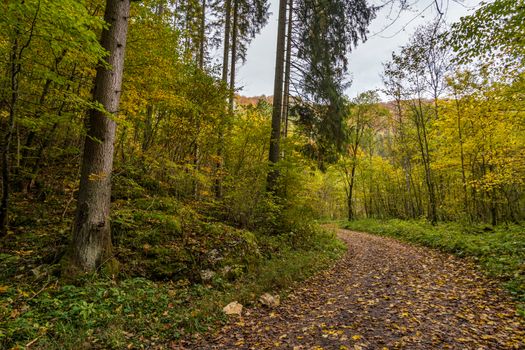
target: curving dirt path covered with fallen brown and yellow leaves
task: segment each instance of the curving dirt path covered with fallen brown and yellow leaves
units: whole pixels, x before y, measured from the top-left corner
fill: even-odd
[[[348,251],[280,306],[231,317],[175,349],[523,349],[516,305],[466,259],[339,230]]]

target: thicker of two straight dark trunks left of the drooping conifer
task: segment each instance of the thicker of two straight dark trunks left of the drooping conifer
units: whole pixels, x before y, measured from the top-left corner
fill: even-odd
[[[283,99],[283,71],[286,36],[286,0],[279,0],[279,22],[277,27],[277,50],[275,53],[275,79],[273,85],[272,131],[268,160],[270,171],[266,183],[269,192],[275,192],[279,173],[274,168],[279,161],[279,142],[281,137],[281,113]]]

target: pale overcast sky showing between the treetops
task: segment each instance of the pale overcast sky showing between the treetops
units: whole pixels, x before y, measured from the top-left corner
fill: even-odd
[[[409,0],[410,1],[410,0]],[[270,0],[272,15],[266,27],[248,49],[247,61],[239,68],[236,85],[244,96],[273,94],[273,70],[277,39],[278,0]],[[349,59],[352,85],[346,94],[350,98],[359,93],[380,89],[382,63],[387,62],[393,51],[406,44],[418,26],[431,21],[436,15],[436,2],[446,13],[447,23],[469,15],[479,7],[481,0],[412,0],[410,10],[402,12],[388,8],[378,13],[369,28],[368,40],[354,49]]]

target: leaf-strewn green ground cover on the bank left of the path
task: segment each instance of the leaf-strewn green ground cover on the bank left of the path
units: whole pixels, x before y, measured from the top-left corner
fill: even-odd
[[[8,236],[0,252],[0,348],[167,345],[220,324],[231,301],[251,305],[264,292],[285,294],[344,251],[314,224],[279,235],[240,230],[166,197],[114,208],[118,276],[65,284],[59,264],[70,222],[52,221],[49,207],[41,222]],[[204,281],[203,270],[214,275]]]

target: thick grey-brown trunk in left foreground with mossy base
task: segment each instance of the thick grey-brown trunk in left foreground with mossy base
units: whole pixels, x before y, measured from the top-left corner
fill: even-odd
[[[71,244],[71,267],[75,271],[94,271],[112,256],[109,208],[111,171],[117,113],[124,69],[130,0],[107,0],[101,44],[109,52],[106,65],[99,65],[93,92],[94,100],[106,112],[92,109],[80,174],[77,212]]]

